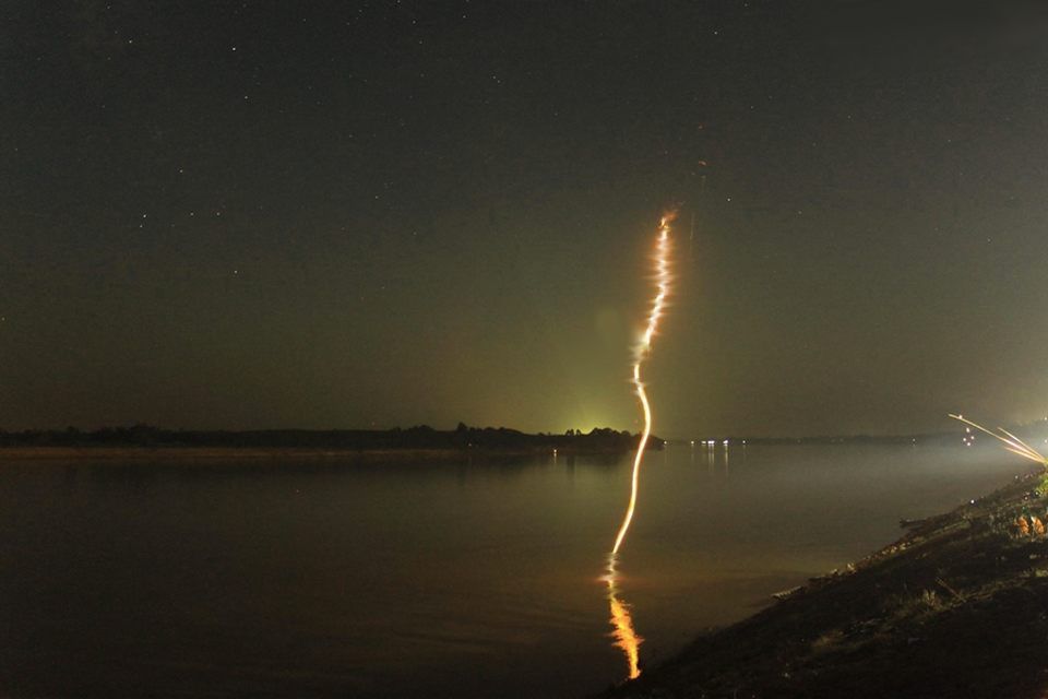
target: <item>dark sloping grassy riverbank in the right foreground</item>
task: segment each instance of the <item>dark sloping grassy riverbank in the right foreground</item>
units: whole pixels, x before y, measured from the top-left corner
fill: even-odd
[[[895,544],[604,696],[1048,697],[1048,540],[1037,531],[1048,501],[1037,484],[912,523]]]

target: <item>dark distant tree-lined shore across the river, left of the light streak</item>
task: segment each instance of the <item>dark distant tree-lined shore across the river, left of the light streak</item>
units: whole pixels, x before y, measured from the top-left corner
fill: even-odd
[[[228,447],[282,449],[479,449],[562,450],[567,452],[627,451],[639,437],[609,427],[590,433],[569,429],[563,435],[531,435],[508,427],[469,427],[458,423],[454,430],[428,425],[402,429],[262,429],[262,430],[171,430],[153,425],[104,427],[80,430],[0,430],[0,447]],[[657,437],[650,442],[662,449]]]

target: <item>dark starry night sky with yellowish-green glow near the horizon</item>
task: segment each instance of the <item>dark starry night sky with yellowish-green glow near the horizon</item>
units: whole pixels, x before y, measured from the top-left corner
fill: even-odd
[[[656,434],[1044,416],[1048,23],[997,7],[4,2],[0,428],[636,430],[675,204]]]

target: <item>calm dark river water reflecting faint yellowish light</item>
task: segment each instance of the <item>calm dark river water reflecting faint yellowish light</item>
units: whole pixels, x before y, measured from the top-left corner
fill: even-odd
[[[579,697],[630,454],[0,464],[7,696]],[[643,665],[1027,466],[991,445],[670,446],[619,557]]]

